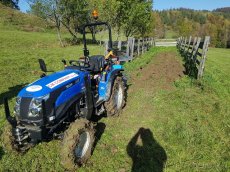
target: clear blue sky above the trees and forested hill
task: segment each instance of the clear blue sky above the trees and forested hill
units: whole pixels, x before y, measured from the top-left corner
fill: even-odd
[[[22,12],[29,10],[27,0],[19,0]],[[230,7],[230,0],[153,0],[154,10],[170,8],[191,8],[196,10],[213,10],[220,7]]]

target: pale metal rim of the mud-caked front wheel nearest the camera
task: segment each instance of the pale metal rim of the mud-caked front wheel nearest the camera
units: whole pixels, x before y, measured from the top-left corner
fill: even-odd
[[[82,158],[90,145],[90,135],[89,132],[84,131],[79,135],[79,142],[77,143],[74,153],[77,158]]]

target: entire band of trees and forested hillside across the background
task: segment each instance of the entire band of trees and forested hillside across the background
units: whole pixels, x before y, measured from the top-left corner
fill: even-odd
[[[20,0],[0,0],[0,3],[19,9]],[[230,7],[213,11],[186,8],[157,11],[153,0],[26,0],[28,13],[36,15],[55,27],[59,40],[62,32],[69,32],[72,40],[79,42],[82,25],[93,22],[92,11],[99,12],[98,21],[107,21],[113,28],[116,39],[154,36],[178,38],[179,36],[211,36],[211,46],[230,47]],[[95,33],[101,31],[89,28]],[[167,33],[173,33],[167,35]]]

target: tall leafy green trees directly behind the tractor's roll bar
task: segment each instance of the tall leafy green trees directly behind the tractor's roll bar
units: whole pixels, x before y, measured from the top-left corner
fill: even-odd
[[[94,22],[92,12],[99,13],[98,21],[106,21],[114,33],[130,36],[147,36],[152,33],[152,0],[28,0],[29,13],[54,22],[60,38],[65,28],[78,41],[85,23]],[[95,40],[95,33],[102,28],[90,27],[89,33]],[[60,39],[61,40],[61,39]]]

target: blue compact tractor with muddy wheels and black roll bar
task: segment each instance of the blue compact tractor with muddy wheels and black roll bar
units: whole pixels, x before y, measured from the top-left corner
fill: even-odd
[[[86,28],[105,25],[109,31],[108,55],[89,55]],[[84,58],[67,62],[65,69],[46,75],[44,61],[39,59],[41,78],[23,88],[10,114],[10,142],[17,151],[25,152],[42,141],[56,137],[62,141],[62,164],[67,169],[85,163],[94,143],[93,116],[119,114],[125,105],[126,86],[123,66],[113,52],[111,28],[106,22],[83,26]]]

